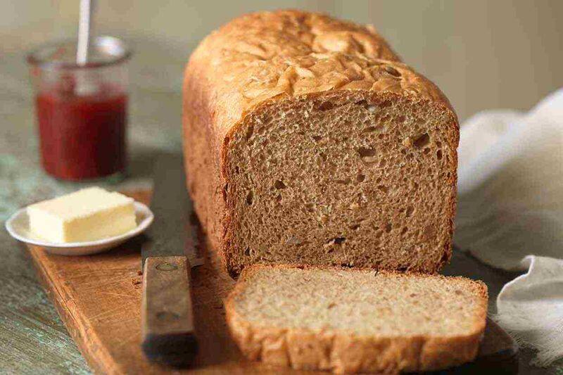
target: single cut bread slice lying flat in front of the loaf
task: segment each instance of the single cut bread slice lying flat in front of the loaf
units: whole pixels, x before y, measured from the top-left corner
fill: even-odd
[[[469,362],[487,287],[463,277],[254,265],[226,302],[250,360],[339,373],[426,371]]]

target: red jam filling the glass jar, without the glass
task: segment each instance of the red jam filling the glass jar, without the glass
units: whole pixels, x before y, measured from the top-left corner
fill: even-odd
[[[46,172],[80,180],[124,170],[127,94],[109,85],[89,94],[54,87],[36,100]]]

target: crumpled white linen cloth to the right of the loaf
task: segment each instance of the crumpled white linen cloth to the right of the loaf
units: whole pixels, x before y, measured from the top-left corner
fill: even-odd
[[[488,110],[460,131],[454,243],[493,267],[527,270],[498,295],[498,322],[563,357],[563,89],[529,113]]]

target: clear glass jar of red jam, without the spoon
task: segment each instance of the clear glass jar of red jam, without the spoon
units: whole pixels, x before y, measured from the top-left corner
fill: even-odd
[[[89,60],[76,63],[76,42],[27,56],[34,84],[44,170],[58,179],[120,178],[127,163],[131,52],[114,37],[92,39]]]

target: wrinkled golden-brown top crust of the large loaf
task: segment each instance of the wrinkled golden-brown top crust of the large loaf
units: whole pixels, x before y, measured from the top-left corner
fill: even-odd
[[[212,32],[192,54],[184,93],[212,113],[222,144],[256,106],[332,90],[391,92],[431,101],[455,113],[444,94],[400,58],[372,26],[320,13],[273,11],[242,15]],[[191,84],[190,84],[191,82]],[[455,119],[457,122],[457,119]]]

